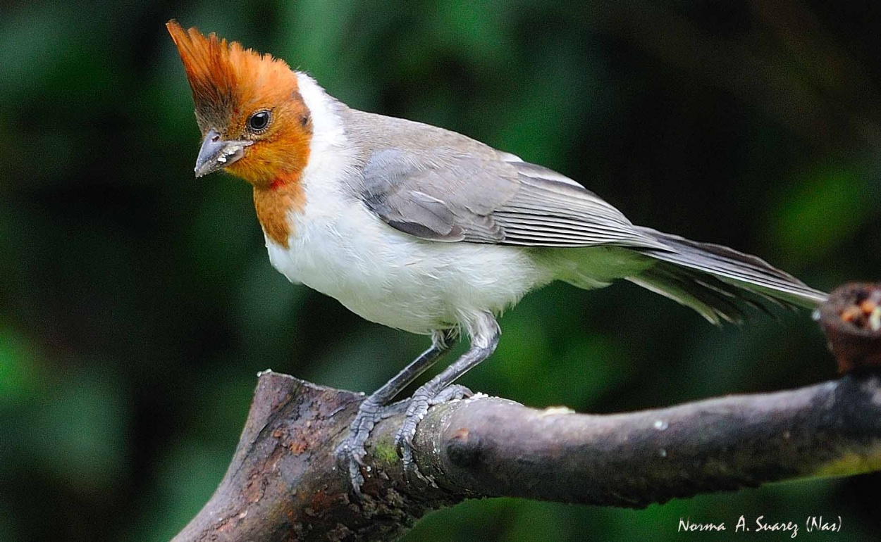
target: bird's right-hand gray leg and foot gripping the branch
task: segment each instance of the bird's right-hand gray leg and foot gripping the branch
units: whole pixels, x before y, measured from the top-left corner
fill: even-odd
[[[419,475],[416,464],[413,463],[413,436],[416,435],[416,426],[419,421],[428,412],[428,407],[444,400],[463,397],[463,390],[467,392],[467,388],[451,385],[458,377],[463,376],[471,368],[477,367],[478,363],[492,355],[499,344],[499,334],[499,325],[492,314],[485,313],[472,330],[471,347],[468,351],[413,393],[410,406],[407,407],[407,415],[403,425],[398,429],[396,437],[403,457],[404,470]]]

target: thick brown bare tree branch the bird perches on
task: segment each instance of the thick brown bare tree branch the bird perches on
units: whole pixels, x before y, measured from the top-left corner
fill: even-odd
[[[470,497],[635,508],[881,470],[881,377],[862,370],[798,390],[632,414],[536,410],[488,397],[445,403],[429,411],[415,440],[419,470],[434,484],[405,479],[396,408],[367,443],[359,500],[333,450],[361,399],[262,373],[224,480],[174,542],[389,540],[428,510]]]

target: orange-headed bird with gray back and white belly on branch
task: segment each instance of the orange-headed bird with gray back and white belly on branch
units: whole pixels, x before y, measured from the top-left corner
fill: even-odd
[[[202,134],[196,177],[223,170],[250,183],[271,265],[363,319],[431,338],[360,403],[337,449],[356,494],[366,440],[393,399],[455,341],[469,342],[407,403],[396,446],[418,474],[418,422],[468,393],[455,381],[492,355],[500,312],[550,282],[598,289],[623,279],[714,324],[826,298],[756,256],[635,225],[542,165],[346,106],[282,59],[174,19],[167,30]]]

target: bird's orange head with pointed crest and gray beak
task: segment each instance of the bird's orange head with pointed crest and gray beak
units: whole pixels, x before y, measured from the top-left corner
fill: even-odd
[[[196,177],[220,169],[257,188],[298,179],[306,166],[312,121],[297,74],[270,55],[205,37],[171,20],[203,142]]]

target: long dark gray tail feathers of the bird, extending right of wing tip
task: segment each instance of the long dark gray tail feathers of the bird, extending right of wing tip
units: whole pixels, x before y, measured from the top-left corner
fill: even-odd
[[[671,250],[640,251],[661,261],[627,280],[691,307],[714,324],[742,321],[744,306],[768,311],[773,304],[812,308],[825,301],[825,293],[755,256],[648,228],[639,230]]]

